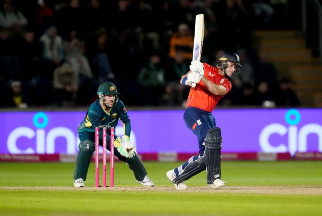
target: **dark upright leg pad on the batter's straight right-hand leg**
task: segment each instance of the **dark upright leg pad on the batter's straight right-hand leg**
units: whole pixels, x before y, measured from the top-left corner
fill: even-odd
[[[221,130],[213,127],[208,130],[205,138],[205,162],[207,170],[207,184],[212,184],[215,179],[221,178]]]

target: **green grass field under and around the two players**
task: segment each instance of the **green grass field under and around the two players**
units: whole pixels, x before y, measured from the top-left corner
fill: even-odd
[[[172,186],[165,173],[181,163],[144,164],[156,189]],[[72,187],[73,170],[74,163],[0,163],[0,215],[322,215],[322,195],[224,193],[210,187],[209,192],[174,187],[173,191],[149,190],[135,181],[122,162],[115,163],[115,188],[138,190],[96,190],[94,163],[85,182],[86,188],[93,189],[82,190]],[[226,187],[307,185],[320,189],[321,170],[322,161],[224,161],[222,179]],[[205,179],[203,172],[186,183],[206,186]]]

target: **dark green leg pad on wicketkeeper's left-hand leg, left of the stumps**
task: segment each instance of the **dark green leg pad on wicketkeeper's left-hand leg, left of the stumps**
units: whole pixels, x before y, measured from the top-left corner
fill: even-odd
[[[91,158],[95,152],[95,143],[90,140],[84,140],[79,143],[78,148],[74,179],[82,178],[85,181]]]

